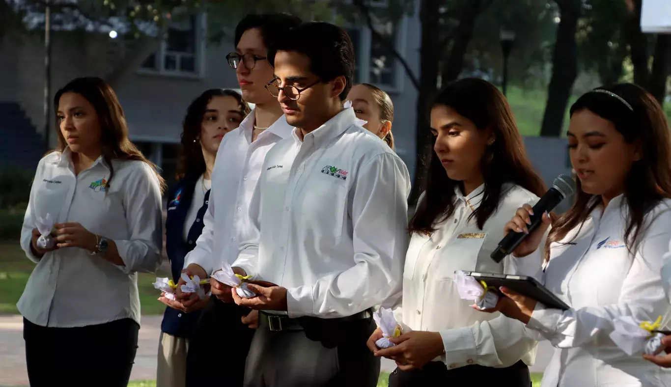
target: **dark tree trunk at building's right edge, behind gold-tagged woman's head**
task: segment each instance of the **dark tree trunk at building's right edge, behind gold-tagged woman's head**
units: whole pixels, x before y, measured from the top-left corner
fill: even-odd
[[[426,119],[429,100],[435,93],[438,77],[439,13],[441,0],[423,0],[419,9],[421,23],[421,48],[419,49],[419,89],[417,90],[417,118],[415,123],[415,181],[410,192],[409,204],[415,205],[419,195],[425,188],[426,172],[433,149],[429,123]]]

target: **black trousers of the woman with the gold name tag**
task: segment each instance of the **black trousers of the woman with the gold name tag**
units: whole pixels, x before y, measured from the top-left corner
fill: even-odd
[[[389,375],[389,387],[415,386],[505,386],[531,387],[529,368],[521,360],[507,368],[478,364],[448,370],[442,362],[429,362],[422,370],[401,371]]]

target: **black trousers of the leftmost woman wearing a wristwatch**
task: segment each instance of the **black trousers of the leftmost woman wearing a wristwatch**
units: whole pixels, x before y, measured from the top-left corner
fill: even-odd
[[[139,330],[140,325],[132,319],[76,328],[41,327],[23,319],[30,386],[53,387],[60,382],[68,386],[127,386]]]

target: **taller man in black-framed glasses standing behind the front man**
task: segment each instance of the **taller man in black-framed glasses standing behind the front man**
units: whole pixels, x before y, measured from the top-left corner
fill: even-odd
[[[293,127],[282,117],[276,98],[265,85],[273,78],[267,60],[268,49],[289,28],[299,25],[298,17],[285,13],[252,14],[236,27],[236,51],[226,56],[236,70],[242,97],[256,106],[240,126],[227,133],[217,152],[212,171],[212,188],[208,209],[203,217],[203,233],[196,247],[185,257],[189,276],[207,278],[221,270],[222,262],[232,264],[238,256],[238,243],[249,227],[248,207],[261,165],[272,146],[291,135]],[[191,243],[191,241],[189,241]],[[174,307],[188,313],[197,305],[195,294],[176,290]],[[189,341],[187,355],[187,386],[209,384],[242,386],[244,364],[250,347],[258,312],[233,303],[230,292],[221,291],[221,284],[210,278],[214,297],[203,311],[195,336]],[[235,355],[222,358],[224,349],[234,348]]]

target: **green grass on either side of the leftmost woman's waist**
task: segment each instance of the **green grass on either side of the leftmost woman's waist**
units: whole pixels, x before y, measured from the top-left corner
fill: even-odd
[[[16,302],[21,297],[25,283],[35,264],[28,260],[18,241],[0,241],[0,314],[16,315]],[[152,282],[156,276],[168,276],[166,273],[138,273],[140,291],[140,311],[143,315],[161,315],[165,305],[158,302],[158,290]]]

